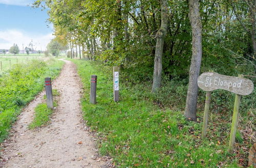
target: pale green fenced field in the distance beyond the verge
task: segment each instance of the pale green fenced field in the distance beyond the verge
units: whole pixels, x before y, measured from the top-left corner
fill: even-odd
[[[0,65],[0,74],[6,70],[9,70],[10,67],[13,67],[16,64],[27,64],[31,60],[36,60],[44,57],[44,54],[0,54],[0,61],[2,62],[2,67]]]

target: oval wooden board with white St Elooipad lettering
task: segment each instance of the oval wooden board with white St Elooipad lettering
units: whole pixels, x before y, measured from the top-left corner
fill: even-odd
[[[197,80],[198,87],[204,91],[223,89],[239,95],[249,95],[253,91],[253,82],[246,78],[204,72]]]

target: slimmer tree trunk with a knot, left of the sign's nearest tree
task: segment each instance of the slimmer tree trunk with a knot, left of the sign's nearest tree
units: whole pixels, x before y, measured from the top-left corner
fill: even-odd
[[[164,3],[164,4],[163,4]],[[156,52],[155,52],[155,64],[154,64],[154,77],[152,92],[156,92],[161,87],[162,80],[162,57],[163,57],[163,45],[164,37],[167,32],[168,26],[168,8],[167,1],[161,1],[161,27],[156,34]]]

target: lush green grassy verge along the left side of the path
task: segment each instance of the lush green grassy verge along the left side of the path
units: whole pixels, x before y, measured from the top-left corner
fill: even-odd
[[[7,136],[22,107],[44,88],[44,78],[55,78],[63,64],[55,59],[34,60],[27,65],[17,65],[0,76],[0,142]]]

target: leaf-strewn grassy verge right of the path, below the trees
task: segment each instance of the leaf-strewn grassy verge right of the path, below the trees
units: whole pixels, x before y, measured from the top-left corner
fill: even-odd
[[[201,139],[202,122],[187,121],[181,111],[160,109],[142,97],[143,84],[120,85],[120,102],[113,102],[112,69],[73,60],[84,85],[84,120],[97,131],[99,151],[119,166],[238,167],[245,166],[250,144],[240,138],[236,154],[227,152],[231,123],[209,124]],[[97,104],[89,103],[90,75],[98,75]],[[202,113],[199,114],[202,116]],[[211,118],[220,115],[210,116]],[[241,137],[241,134],[237,135]]]

